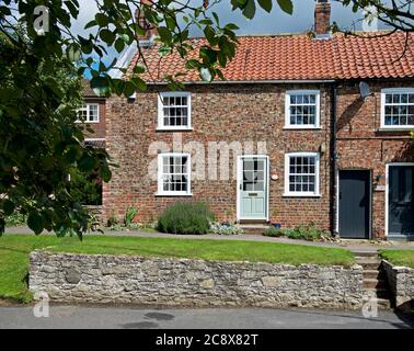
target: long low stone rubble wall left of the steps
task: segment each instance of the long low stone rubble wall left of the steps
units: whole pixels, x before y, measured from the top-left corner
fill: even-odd
[[[360,308],[363,268],[31,253],[30,290],[51,301],[158,306]]]

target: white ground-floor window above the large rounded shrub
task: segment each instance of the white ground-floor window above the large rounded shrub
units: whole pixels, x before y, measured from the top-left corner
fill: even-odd
[[[191,156],[188,154],[158,156],[158,194],[191,195]]]

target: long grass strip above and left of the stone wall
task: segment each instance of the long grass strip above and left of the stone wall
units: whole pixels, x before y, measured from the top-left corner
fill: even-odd
[[[315,263],[349,267],[354,256],[344,249],[318,248],[291,244],[85,236],[4,235],[0,237],[0,297],[30,302],[26,276],[28,253],[35,249],[78,253],[124,253],[142,257],[175,257],[271,263]]]

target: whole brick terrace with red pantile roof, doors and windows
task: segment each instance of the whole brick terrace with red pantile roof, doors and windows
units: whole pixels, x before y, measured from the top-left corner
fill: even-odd
[[[106,216],[207,202],[221,220],[314,224],[344,238],[414,235],[414,34],[241,36],[226,81],[205,83],[142,41],[148,90],[106,100]],[[376,37],[377,36],[377,37]],[[199,46],[204,38],[194,38]],[[406,48],[404,49],[406,43]],[[142,57],[129,48],[130,72]],[[163,77],[186,71],[183,91]],[[127,73],[128,75],[128,73]]]

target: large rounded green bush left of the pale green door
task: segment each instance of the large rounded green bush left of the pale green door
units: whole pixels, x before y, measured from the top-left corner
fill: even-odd
[[[207,234],[214,219],[204,203],[176,203],[158,218],[157,229],[171,234]]]

